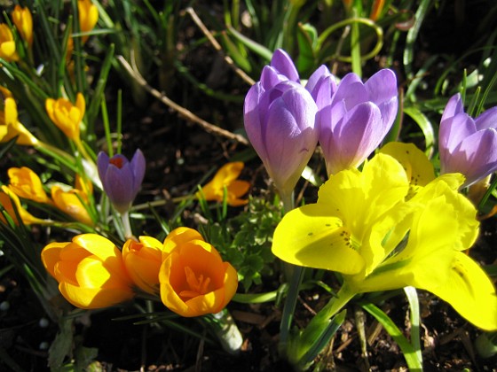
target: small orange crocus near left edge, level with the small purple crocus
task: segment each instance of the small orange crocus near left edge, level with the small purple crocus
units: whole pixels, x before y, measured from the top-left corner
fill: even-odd
[[[12,167],[7,171],[9,174],[9,189],[20,198],[34,200],[38,203],[51,204],[50,198],[43,190],[40,177],[28,167]]]

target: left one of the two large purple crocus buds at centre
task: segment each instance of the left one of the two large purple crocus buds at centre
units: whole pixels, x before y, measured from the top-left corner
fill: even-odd
[[[317,111],[311,94],[295,81],[282,81],[268,90],[257,82],[245,97],[248,139],[282,198],[291,195],[316,148]]]

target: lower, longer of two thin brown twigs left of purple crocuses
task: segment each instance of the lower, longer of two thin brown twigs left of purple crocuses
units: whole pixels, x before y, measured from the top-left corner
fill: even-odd
[[[121,63],[122,67],[124,67],[124,69],[128,72],[128,74],[130,74],[130,76],[135,81],[137,81],[141,87],[146,89],[148,93],[159,99],[164,105],[169,106],[171,109],[176,111],[180,116],[182,116],[186,120],[190,120],[200,125],[201,128],[205,129],[206,132],[213,133],[217,136],[224,136],[233,141],[237,141],[238,143],[248,144],[248,140],[244,136],[236,135],[228,130],[219,128],[216,125],[211,124],[208,121],[199,118],[193,112],[185,109],[185,107],[177,105],[177,103],[170,100],[169,97],[165,96],[159,90],[154,89],[152,86],[150,86],[150,84],[146,82],[145,78],[141,74],[139,74],[138,70],[133,69],[125,58],[123,58],[122,56],[117,56],[117,59]]]

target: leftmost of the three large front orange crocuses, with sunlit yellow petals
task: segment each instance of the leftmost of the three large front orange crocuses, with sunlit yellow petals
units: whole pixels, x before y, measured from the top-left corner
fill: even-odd
[[[134,296],[121,251],[104,236],[82,234],[72,242],[48,244],[42,261],[59,282],[62,296],[74,306],[114,306]]]

